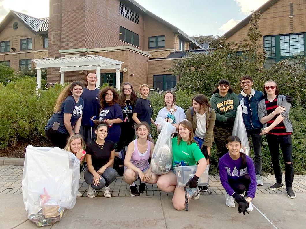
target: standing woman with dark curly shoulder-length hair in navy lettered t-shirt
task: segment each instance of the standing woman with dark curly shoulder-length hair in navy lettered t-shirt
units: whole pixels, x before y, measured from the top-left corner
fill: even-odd
[[[120,123],[123,122],[121,107],[118,104],[118,93],[113,87],[105,87],[98,96],[101,106],[99,121],[104,121],[108,125],[106,140],[117,143],[121,133]]]

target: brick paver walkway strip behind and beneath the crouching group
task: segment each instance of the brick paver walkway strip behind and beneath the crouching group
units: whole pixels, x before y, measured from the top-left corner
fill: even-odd
[[[23,166],[14,165],[1,165],[0,166],[0,193],[1,194],[21,194],[21,182],[22,182]],[[86,196],[88,184],[84,181],[84,173],[80,174],[80,186],[79,191]],[[283,183],[285,184],[285,176],[283,176]],[[257,186],[257,194],[275,194],[286,193],[285,188],[271,191],[269,186],[275,183],[274,175],[263,176],[263,186]],[[136,185],[139,182],[136,181]],[[219,176],[209,176],[209,186],[212,195],[222,195],[225,193]],[[293,190],[296,193],[306,192],[306,175],[294,175]],[[110,185],[110,191],[113,196],[130,196],[129,185],[122,181],[122,176],[118,176],[117,179]],[[102,196],[102,190],[96,193],[97,196]],[[160,191],[155,185],[147,184],[147,191],[140,195],[147,196],[160,196],[160,195],[172,195],[172,193],[166,193]],[[204,195],[208,195],[208,192],[204,192]]]

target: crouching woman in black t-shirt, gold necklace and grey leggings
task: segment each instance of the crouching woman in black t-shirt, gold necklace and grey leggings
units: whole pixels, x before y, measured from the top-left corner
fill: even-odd
[[[95,197],[95,190],[102,188],[104,197],[111,197],[109,185],[116,179],[117,172],[110,168],[114,163],[114,143],[106,140],[107,125],[100,124],[95,130],[97,140],[88,144],[86,161],[88,169],[84,173],[84,180],[88,184],[87,197]]]

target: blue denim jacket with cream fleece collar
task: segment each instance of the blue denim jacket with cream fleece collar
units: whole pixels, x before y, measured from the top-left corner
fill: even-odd
[[[246,95],[243,90],[238,95],[239,103],[243,109],[243,122],[245,129],[247,130],[260,129],[263,127],[258,118],[257,108],[259,101],[264,98],[263,93],[261,91],[255,91],[254,89],[251,90],[252,91],[250,95]]]

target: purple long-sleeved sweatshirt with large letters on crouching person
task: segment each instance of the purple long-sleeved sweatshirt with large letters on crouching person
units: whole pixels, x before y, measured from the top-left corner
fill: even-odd
[[[249,186],[249,190],[246,193],[247,197],[251,197],[254,199],[255,197],[255,192],[256,192],[256,175],[255,175],[255,168],[254,168],[254,163],[252,159],[245,155],[246,158],[246,167],[243,169],[239,169],[241,166],[242,158],[239,157],[237,160],[233,160],[230,157],[230,154],[227,153],[223,155],[219,159],[219,176],[220,176],[220,181],[224,189],[226,190],[227,194],[230,196],[233,194],[234,190],[230,186],[228,179],[239,179],[241,176],[248,174],[251,178],[251,184]]]

